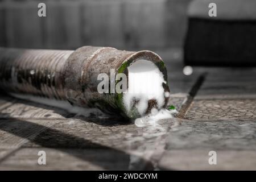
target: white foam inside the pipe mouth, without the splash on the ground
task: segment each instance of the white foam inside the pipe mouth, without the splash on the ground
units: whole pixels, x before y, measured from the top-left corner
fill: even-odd
[[[128,88],[123,94],[123,102],[128,111],[137,101],[135,107],[139,114],[144,115],[148,100],[155,100],[158,109],[164,105],[163,73],[154,63],[148,60],[137,60],[128,67]],[[166,93],[168,94],[168,93]]]

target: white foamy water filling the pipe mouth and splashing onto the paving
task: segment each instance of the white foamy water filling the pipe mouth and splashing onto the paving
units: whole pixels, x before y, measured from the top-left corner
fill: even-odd
[[[172,114],[176,113],[176,110],[170,111],[162,108],[164,96],[168,97],[170,93],[164,93],[162,84],[166,81],[164,81],[163,73],[159,68],[151,61],[137,60],[128,67],[128,71],[128,89],[127,93],[123,94],[123,102],[127,110],[131,109],[134,100],[138,101],[135,107],[141,115],[144,115],[148,107],[148,100],[156,100],[158,104],[158,108],[153,108],[150,114],[135,119],[135,125],[138,127],[156,126],[160,119],[172,118]]]

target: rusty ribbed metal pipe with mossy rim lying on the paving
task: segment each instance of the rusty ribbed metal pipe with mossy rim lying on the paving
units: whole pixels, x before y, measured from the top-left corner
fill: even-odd
[[[110,69],[128,75],[127,67],[139,59],[155,63],[166,81],[164,91],[170,92],[166,67],[156,53],[92,46],[75,51],[0,48],[0,88],[7,93],[64,100],[76,106],[97,107],[137,118],[141,116],[138,112],[127,112],[122,93],[97,92],[97,76],[100,73],[110,76]],[[167,104],[168,97],[164,97]],[[148,109],[151,107],[148,103]]]

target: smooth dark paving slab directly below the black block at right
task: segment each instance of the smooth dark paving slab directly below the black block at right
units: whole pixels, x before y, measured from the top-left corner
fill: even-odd
[[[195,99],[256,98],[255,68],[197,68],[207,72]]]

